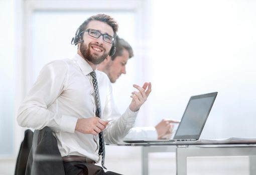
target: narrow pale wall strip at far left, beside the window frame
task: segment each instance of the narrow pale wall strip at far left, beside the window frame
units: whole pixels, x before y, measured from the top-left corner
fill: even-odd
[[[13,0],[0,0],[0,21],[0,156],[9,156],[13,153],[16,121]]]

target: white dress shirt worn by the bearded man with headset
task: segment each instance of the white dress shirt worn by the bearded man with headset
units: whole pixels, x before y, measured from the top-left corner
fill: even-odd
[[[81,155],[99,161],[98,135],[75,131],[78,118],[95,116],[91,66],[80,55],[55,60],[43,67],[35,84],[18,110],[18,123],[24,127],[54,131],[62,156]],[[133,127],[137,112],[129,109],[120,115],[113,101],[107,75],[96,70],[102,119],[109,120],[104,139],[116,143]]]

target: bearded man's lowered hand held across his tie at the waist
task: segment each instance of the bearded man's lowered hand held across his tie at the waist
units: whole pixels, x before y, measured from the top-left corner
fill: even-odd
[[[82,133],[97,135],[106,128],[108,121],[103,121],[99,117],[79,118],[76,122],[75,130]]]

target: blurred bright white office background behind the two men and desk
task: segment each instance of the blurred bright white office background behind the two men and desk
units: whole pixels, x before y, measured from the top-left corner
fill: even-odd
[[[131,101],[134,83],[152,82],[137,126],[153,126],[167,117],[180,119],[191,95],[218,91],[201,138],[256,137],[256,1],[0,0],[0,174],[14,173],[26,129],[16,121],[21,101],[44,64],[76,53],[71,38],[96,13],[113,16],[118,35],[135,51],[126,74],[113,84],[120,112]],[[141,173],[139,147],[107,149],[110,170]],[[175,154],[152,156],[165,166],[161,174],[175,174]],[[117,159],[133,161],[131,170],[116,167]],[[208,159],[194,159],[191,167],[195,161],[218,169]],[[213,162],[222,162],[222,170],[214,174],[228,174],[223,167],[233,165],[224,162],[231,161],[242,167],[226,169],[230,174],[247,173],[246,157],[220,157]],[[159,174],[154,164],[150,173]],[[189,172],[199,174],[195,169]]]

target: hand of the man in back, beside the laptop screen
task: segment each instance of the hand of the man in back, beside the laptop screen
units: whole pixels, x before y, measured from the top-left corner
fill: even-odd
[[[177,119],[162,119],[156,126],[158,139],[170,139],[173,133],[175,123],[179,123]]]

